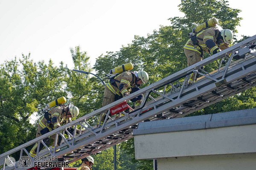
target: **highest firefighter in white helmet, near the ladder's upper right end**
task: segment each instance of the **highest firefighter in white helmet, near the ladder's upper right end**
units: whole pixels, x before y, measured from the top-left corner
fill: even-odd
[[[229,29],[219,31],[218,28],[207,28],[197,33],[183,47],[188,66],[201,61],[203,59],[203,51],[207,51],[210,55],[213,55],[228,48],[232,39],[233,32]],[[192,74],[191,80],[194,79],[195,74]]]

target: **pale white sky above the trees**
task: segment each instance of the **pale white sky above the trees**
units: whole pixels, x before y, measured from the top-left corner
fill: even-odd
[[[253,0],[230,0],[242,10],[239,37],[253,36]],[[180,0],[0,0],[0,63],[31,54],[73,69],[70,48],[87,51],[93,66],[106,51],[119,51],[134,35],[147,36],[170,17],[182,17]]]

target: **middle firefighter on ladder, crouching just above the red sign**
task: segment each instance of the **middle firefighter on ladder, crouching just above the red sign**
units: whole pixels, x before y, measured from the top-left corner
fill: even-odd
[[[128,96],[131,88],[136,88],[142,83],[148,82],[148,73],[145,71],[125,71],[114,78],[105,85],[104,98],[102,107],[108,105],[122,97]],[[104,122],[105,114],[101,115],[101,123]]]

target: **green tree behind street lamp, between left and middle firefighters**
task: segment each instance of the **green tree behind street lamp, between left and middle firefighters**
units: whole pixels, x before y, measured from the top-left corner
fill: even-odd
[[[92,72],[90,67],[89,58],[86,52],[81,51],[79,46],[75,49],[70,48],[71,56],[76,70]],[[66,88],[68,96],[70,96],[70,102],[79,108],[79,117],[102,107],[102,98],[104,92],[104,85],[96,77],[91,77],[90,74],[78,73],[66,69]],[[89,119],[92,125],[97,124],[98,119]]]

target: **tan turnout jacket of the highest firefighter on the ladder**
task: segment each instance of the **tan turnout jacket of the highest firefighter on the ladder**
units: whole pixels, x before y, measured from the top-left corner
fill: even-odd
[[[196,34],[196,37],[198,45],[202,47],[203,51],[207,51],[210,54],[215,54],[214,51],[216,49],[224,50],[229,47],[229,45],[222,39],[221,32],[217,28],[207,28]],[[183,48],[201,54],[201,50],[198,45],[194,45],[192,40],[189,39]]]

